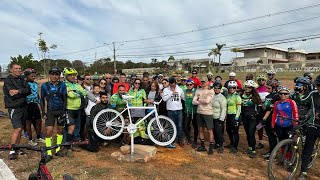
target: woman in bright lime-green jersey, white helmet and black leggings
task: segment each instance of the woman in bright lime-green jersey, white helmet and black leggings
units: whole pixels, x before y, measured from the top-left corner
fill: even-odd
[[[235,81],[229,81],[228,83],[228,95],[227,95],[227,120],[226,130],[230,139],[230,144],[227,148],[230,148],[230,153],[238,152],[239,144],[239,117],[241,113],[241,97],[236,92],[237,83]]]

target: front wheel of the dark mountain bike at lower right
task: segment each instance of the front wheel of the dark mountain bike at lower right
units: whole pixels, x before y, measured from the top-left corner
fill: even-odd
[[[268,163],[269,179],[292,179],[301,164],[302,144],[294,148],[293,139],[279,142],[271,152]]]

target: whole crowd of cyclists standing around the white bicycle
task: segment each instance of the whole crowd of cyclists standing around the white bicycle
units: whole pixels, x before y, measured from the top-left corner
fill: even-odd
[[[36,146],[42,142],[47,147],[52,146],[56,128],[56,144],[88,139],[89,143],[81,148],[97,152],[99,146],[109,142],[95,134],[93,119],[106,108],[121,112],[126,107],[122,99],[125,94],[134,97],[130,99],[130,106],[153,106],[154,101],[162,99],[158,113],[174,121],[177,144],[182,148],[191,145],[199,152],[207,151],[209,155],[214,153],[214,149],[223,153],[225,148],[237,154],[239,126],[243,125],[248,145],[246,154],[250,158],[256,158],[256,149],[264,148],[265,130],[269,149],[263,157],[268,161],[277,142],[287,139],[288,132],[299,121],[320,125],[320,75],[312,81],[312,73],[295,78],[294,90],[290,91],[276,79],[274,70],[256,78],[249,73],[243,84],[236,78],[236,73],[230,72],[229,79],[222,84],[221,76],[214,77],[211,72],[200,80],[196,70],[191,72],[190,77],[181,73],[168,75],[168,78],[162,74],[151,77],[145,72],[139,78],[136,74],[127,76],[124,73],[119,77],[108,73],[103,77],[79,75],[72,67],[63,70],[52,67],[49,69],[48,82],[43,83],[41,88],[36,82],[36,70],[29,68],[22,72],[19,64],[11,64],[10,71],[11,74],[4,81],[3,91],[13,126],[11,144],[19,144],[21,132],[26,131],[29,145]],[[146,113],[144,109],[130,112],[134,120],[144,117]],[[45,137],[41,136],[43,119]],[[36,138],[32,136],[32,126]],[[135,133],[135,138],[140,140],[137,142],[150,143],[144,130],[146,128],[141,129]],[[229,140],[224,138],[225,130]],[[306,130],[300,174],[302,179],[306,177],[313,146],[320,136],[320,130],[316,127],[307,127]],[[205,145],[205,133],[209,133],[208,148]],[[126,135],[122,135],[117,143],[128,143],[127,140]],[[227,145],[226,142],[230,143]],[[172,143],[167,148],[176,148],[176,144]],[[46,161],[49,162],[53,154],[72,157],[72,152],[79,150],[77,146],[58,148],[54,153],[50,150],[47,151]],[[16,159],[19,153],[10,151],[9,159]]]

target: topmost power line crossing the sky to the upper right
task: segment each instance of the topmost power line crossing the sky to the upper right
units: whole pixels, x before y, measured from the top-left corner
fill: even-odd
[[[262,16],[243,19],[243,20],[239,20],[239,21],[232,21],[232,22],[229,22],[229,23],[224,23],[224,24],[209,26],[209,27],[205,27],[205,28],[199,28],[199,29],[184,31],[184,32],[180,32],[180,33],[173,33],[173,34],[167,34],[167,35],[162,35],[162,36],[155,36],[155,37],[149,37],[149,38],[140,38],[140,39],[133,39],[133,40],[123,40],[123,41],[118,41],[117,43],[129,43],[129,42],[136,42],[136,41],[146,41],[146,40],[153,40],[153,39],[159,39],[159,38],[166,38],[166,37],[178,36],[178,35],[183,35],[183,34],[189,34],[189,33],[194,33],[194,32],[198,32],[198,31],[204,31],[204,30],[208,30],[208,29],[213,29],[213,28],[217,28],[217,27],[224,27],[224,26],[228,26],[228,25],[239,24],[239,23],[243,23],[243,22],[247,22],[247,21],[253,21],[253,20],[257,20],[257,19],[266,18],[266,17],[277,16],[277,15],[290,13],[290,12],[294,12],[294,11],[300,11],[300,10],[304,10],[304,9],[308,9],[308,8],[316,8],[318,6],[320,6],[320,4],[314,4],[314,5],[309,5],[309,6],[305,6],[305,7],[301,7],[301,8],[296,8],[296,9],[291,9],[291,10],[286,10],[286,11],[280,11],[280,12],[276,12],[276,13],[270,13],[270,14],[266,14],[266,15],[262,15]]]

